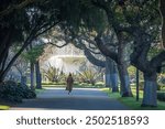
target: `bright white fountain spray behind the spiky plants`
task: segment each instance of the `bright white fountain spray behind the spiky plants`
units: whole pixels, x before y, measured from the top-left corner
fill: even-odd
[[[82,51],[74,47],[72,44],[62,47],[54,49],[51,56],[44,62],[41,62],[42,68],[46,68],[50,64],[56,68],[59,68],[64,73],[77,73],[79,67],[86,62],[86,56]]]

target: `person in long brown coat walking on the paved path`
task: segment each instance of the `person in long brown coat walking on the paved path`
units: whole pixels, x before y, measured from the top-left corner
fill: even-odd
[[[73,84],[74,84],[74,78],[72,76],[72,73],[69,73],[69,75],[68,75],[68,77],[66,79],[66,84],[67,84],[66,90],[68,90],[68,95],[69,95],[69,93],[72,93],[72,90],[73,90]]]

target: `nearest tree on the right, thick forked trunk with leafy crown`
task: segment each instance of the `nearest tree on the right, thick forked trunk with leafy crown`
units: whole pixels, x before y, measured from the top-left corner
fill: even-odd
[[[148,52],[154,44],[157,44],[160,31],[160,13],[155,9],[157,1],[127,2],[122,6],[125,21],[129,24],[130,34],[133,36],[133,53],[131,64],[144,74],[144,95],[142,106],[157,106],[156,79],[160,67],[165,61],[165,51],[148,58]],[[134,10],[134,11],[132,11]],[[156,18],[156,19],[155,19]]]

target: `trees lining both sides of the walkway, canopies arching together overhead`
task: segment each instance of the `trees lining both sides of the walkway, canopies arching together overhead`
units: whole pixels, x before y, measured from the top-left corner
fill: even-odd
[[[2,0],[0,82],[20,55],[28,53],[22,57],[31,63],[31,88],[34,88],[34,66],[41,88],[38,57],[44,44],[41,39],[56,30],[64,37],[51,36],[66,43],[48,43],[57,47],[73,43],[84,50],[92,64],[106,67],[106,85],[112,92],[119,92],[119,73],[122,97],[132,96],[128,66],[140,69],[144,75],[142,106],[157,106],[157,73],[165,63],[164,9],[163,0]],[[9,57],[12,47],[16,51]]]

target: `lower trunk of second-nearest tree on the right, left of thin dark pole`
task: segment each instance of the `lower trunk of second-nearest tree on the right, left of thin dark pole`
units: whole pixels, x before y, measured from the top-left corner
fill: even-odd
[[[118,65],[120,77],[120,94],[122,97],[132,97],[130,77],[125,64]]]

